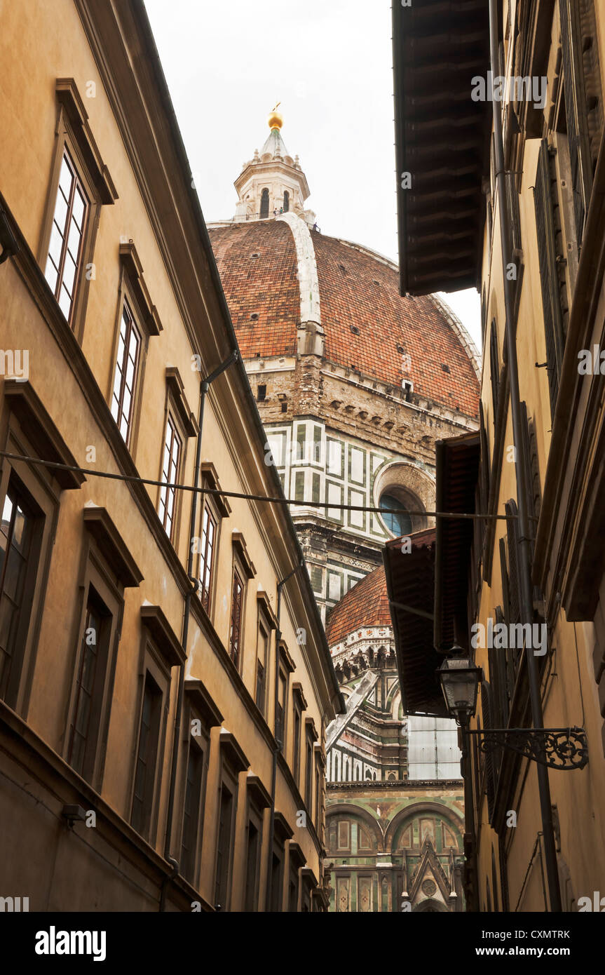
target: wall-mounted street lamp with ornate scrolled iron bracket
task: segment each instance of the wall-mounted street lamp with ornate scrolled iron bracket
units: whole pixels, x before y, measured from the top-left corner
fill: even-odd
[[[456,652],[464,654],[461,647],[454,645],[450,653]],[[489,755],[499,748],[508,748],[526,759],[562,771],[586,765],[588,743],[584,728],[470,728],[481,668],[475,667],[469,657],[446,658],[438,668],[437,676],[448,712],[460,724],[463,734],[476,737],[480,752]]]

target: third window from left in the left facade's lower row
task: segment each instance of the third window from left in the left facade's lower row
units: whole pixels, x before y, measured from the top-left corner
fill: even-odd
[[[161,712],[162,691],[147,672],[136,748],[131,818],[132,827],[145,839],[151,825]]]

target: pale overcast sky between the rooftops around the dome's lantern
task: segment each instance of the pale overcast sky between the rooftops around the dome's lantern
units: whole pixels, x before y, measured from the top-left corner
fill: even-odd
[[[390,0],[145,0],[208,222],[269,135],[300,156],[321,232],[397,260]],[[476,292],[446,295],[480,348]]]

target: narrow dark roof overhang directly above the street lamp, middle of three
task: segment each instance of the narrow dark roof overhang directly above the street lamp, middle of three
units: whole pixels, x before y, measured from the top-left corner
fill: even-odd
[[[435,444],[436,510],[474,513],[479,470],[479,434]],[[469,569],[474,522],[437,518],[435,546],[435,647],[444,653],[468,638]]]

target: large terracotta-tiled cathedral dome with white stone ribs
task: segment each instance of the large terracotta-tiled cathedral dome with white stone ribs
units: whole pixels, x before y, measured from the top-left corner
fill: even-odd
[[[473,340],[435,295],[401,297],[396,264],[294,214],[208,231],[244,359],[296,355],[311,319],[327,363],[477,417]]]

